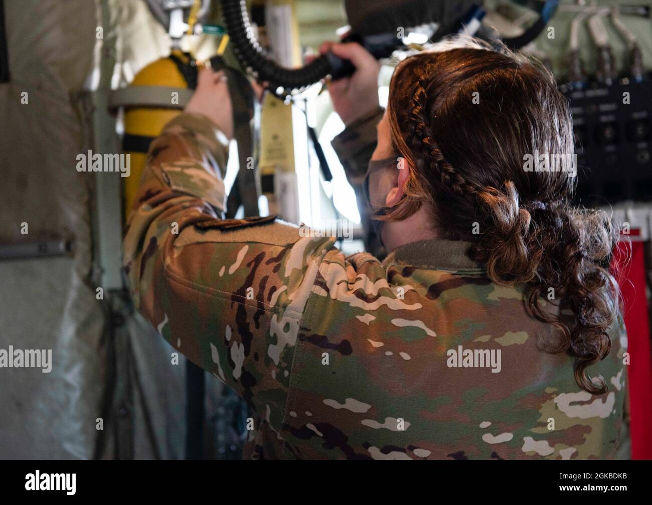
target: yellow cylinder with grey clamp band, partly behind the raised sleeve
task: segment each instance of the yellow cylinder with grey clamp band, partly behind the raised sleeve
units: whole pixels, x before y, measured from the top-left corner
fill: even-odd
[[[125,136],[123,151],[130,154],[131,175],[124,180],[125,216],[127,216],[147,159],[147,150],[164,126],[183,111],[192,90],[179,69],[190,68],[187,53],[172,51],[171,55],[145,66],[131,85],[116,93],[113,106],[124,107]]]

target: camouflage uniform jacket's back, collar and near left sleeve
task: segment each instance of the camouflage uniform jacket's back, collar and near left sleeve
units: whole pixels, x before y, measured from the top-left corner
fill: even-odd
[[[256,412],[246,457],[574,459],[625,441],[624,331],[578,388],[550,327],[432,240],[383,263],[283,222],[224,222],[226,147],[197,115],[153,143],[124,265],[158,332]],[[470,354],[469,354],[470,353]],[[470,365],[470,366],[469,366]]]

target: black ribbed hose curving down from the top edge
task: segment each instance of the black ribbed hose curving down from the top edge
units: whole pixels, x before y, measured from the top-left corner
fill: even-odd
[[[253,35],[244,0],[222,0],[222,15],[233,52],[241,65],[256,72],[259,81],[286,89],[301,89],[333,74],[327,57],[319,57],[303,68],[283,68],[265,55]]]

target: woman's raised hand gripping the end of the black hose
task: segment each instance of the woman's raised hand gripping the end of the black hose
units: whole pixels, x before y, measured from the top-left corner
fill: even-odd
[[[348,59],[355,66],[353,75],[328,84],[333,108],[348,126],[378,108],[380,64],[363,46],[355,42],[348,44],[324,42],[319,47],[319,52],[322,54],[329,50],[340,58]]]

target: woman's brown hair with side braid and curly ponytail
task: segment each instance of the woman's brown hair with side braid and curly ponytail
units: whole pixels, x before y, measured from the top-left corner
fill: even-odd
[[[524,169],[526,154],[574,152],[571,113],[552,74],[479,42],[426,51],[397,66],[387,109],[394,149],[413,169],[402,200],[380,218],[402,220],[428,204],[439,236],[471,240],[492,281],[526,284],[526,310],[557,328],[540,348],[574,356],[578,385],[606,392],[586,369],[611,349],[617,233],[606,212],[571,205],[570,166]],[[542,306],[550,288],[570,320]]]

